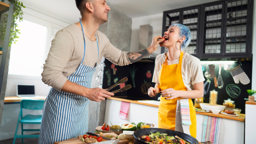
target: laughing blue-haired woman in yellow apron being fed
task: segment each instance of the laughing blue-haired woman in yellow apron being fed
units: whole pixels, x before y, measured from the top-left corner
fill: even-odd
[[[156,57],[152,82],[148,94],[155,97],[161,92],[158,127],[175,130],[177,100],[188,99],[191,125],[189,132],[196,138],[196,114],[191,98],[203,97],[203,77],[200,60],[183,50],[191,41],[190,30],[181,24],[173,24],[164,33],[162,46],[167,53]]]

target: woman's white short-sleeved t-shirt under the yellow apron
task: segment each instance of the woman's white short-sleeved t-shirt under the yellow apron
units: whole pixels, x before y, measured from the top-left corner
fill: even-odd
[[[159,72],[161,70],[162,64],[164,63],[164,60],[166,59],[166,56],[167,56],[167,53],[163,53],[163,54],[157,55],[156,57],[153,80],[152,80],[152,82],[154,83],[159,83],[159,79],[158,79]],[[167,65],[178,64],[178,63],[179,63],[179,58],[174,61],[167,60]],[[205,81],[200,60],[188,53],[183,54],[182,65],[181,65],[181,75],[187,90],[193,90],[193,85],[195,83],[200,83]]]

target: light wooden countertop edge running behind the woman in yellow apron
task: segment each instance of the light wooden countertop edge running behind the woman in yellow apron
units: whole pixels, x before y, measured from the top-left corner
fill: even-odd
[[[159,107],[159,105],[146,104],[146,103],[143,103],[143,102],[138,102],[137,100],[127,100],[127,99],[124,99],[124,98],[117,98],[117,97],[114,97],[114,96],[109,98],[109,99],[111,99],[111,100],[118,100],[118,101],[125,101],[125,102],[131,102],[131,103],[134,103],[134,104],[141,104],[141,105],[147,105],[147,106],[152,106],[152,107]],[[255,102],[255,105],[256,105],[256,102]],[[242,122],[245,121],[245,114],[239,114],[238,117],[225,116],[225,115],[222,115],[222,114],[215,115],[212,112],[196,112],[196,114],[215,116],[215,117],[219,117],[219,118],[232,119],[232,120],[239,120],[239,121],[242,121]]]

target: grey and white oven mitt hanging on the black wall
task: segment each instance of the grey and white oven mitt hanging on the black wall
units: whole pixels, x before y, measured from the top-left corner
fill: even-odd
[[[236,68],[231,69],[230,72],[236,84],[239,83],[239,80],[242,84],[250,83],[250,79],[248,78],[246,73],[243,71],[241,66],[237,66]]]

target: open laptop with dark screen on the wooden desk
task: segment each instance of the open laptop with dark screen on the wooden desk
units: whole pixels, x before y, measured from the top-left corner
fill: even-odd
[[[35,95],[35,85],[32,84],[17,84],[17,97],[20,98],[37,98]]]

